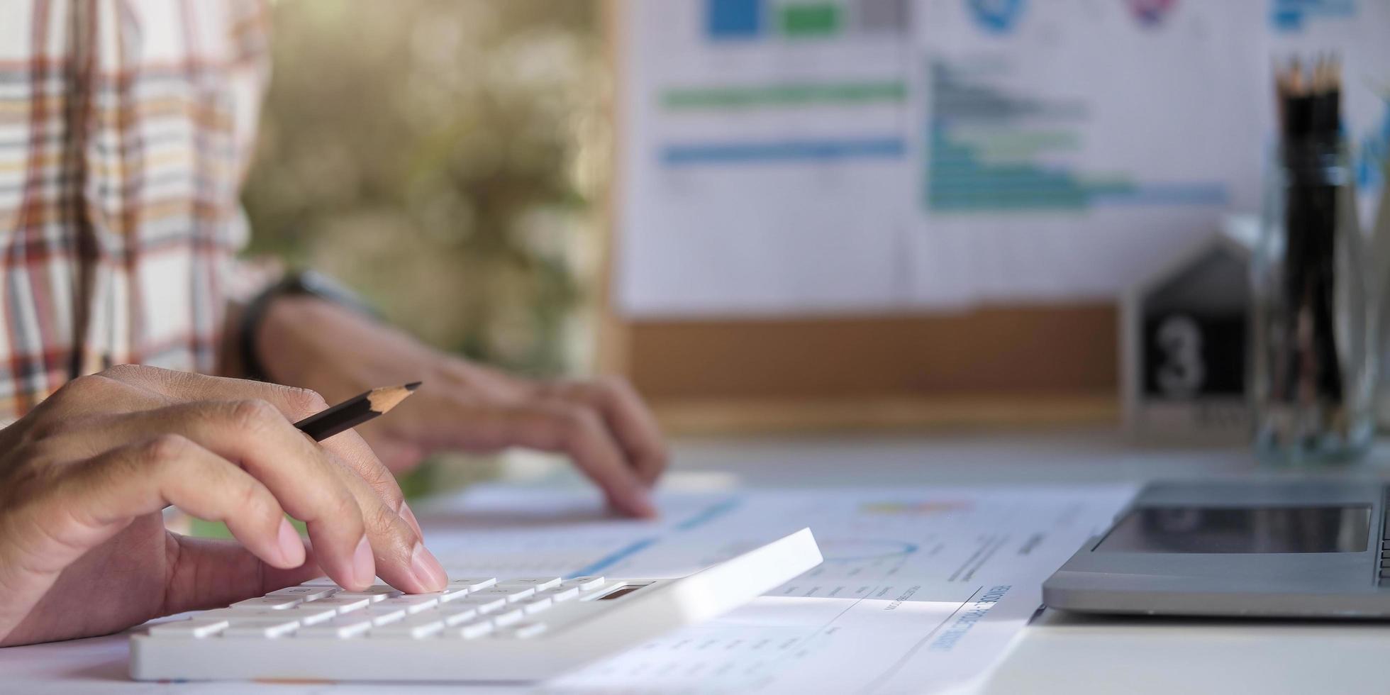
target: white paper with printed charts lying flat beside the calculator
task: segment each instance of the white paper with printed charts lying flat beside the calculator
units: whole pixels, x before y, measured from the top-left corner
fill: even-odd
[[[431,535],[450,571],[681,575],[802,527],[826,562],[724,619],[546,684],[545,692],[938,692],[999,659],[1041,582],[1131,496],[865,488],[670,495],[614,521],[588,493],[491,488],[470,530]]]

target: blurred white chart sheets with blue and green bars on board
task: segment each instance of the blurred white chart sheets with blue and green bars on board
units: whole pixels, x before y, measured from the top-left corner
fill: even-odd
[[[623,4],[628,318],[1115,297],[1257,213],[1270,58],[1337,49],[1369,211],[1380,0]]]

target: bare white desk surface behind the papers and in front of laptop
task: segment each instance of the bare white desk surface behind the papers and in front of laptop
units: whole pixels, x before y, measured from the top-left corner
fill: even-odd
[[[677,485],[710,474],[753,486],[1016,485],[1258,470],[1245,449],[1133,449],[1111,432],[687,441],[676,452]],[[1377,450],[1358,466],[1325,473],[1384,477],[1387,461],[1390,452]],[[1015,642],[984,691],[1387,692],[1387,659],[1390,624],[1084,619],[1049,610]]]

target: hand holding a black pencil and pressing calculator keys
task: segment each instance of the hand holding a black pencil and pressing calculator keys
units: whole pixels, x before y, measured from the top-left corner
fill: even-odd
[[[350,589],[374,575],[443,588],[361,438],[318,445],[292,425],[324,407],[309,391],[125,366],[0,431],[0,646],[114,632],[325,573]],[[236,541],[165,531],[168,505]]]

